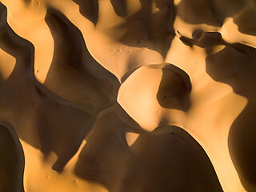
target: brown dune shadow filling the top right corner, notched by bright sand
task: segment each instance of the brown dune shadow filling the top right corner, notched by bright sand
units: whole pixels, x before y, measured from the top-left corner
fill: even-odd
[[[242,34],[256,35],[256,3],[250,0],[182,0],[177,14],[190,24],[221,27],[226,18],[233,18]]]

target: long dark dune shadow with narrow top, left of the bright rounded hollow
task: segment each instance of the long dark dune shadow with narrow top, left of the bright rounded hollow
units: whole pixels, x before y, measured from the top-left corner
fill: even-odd
[[[54,38],[54,58],[44,85],[95,113],[113,104],[118,78],[90,55],[81,31],[58,10],[47,10],[45,20]]]

